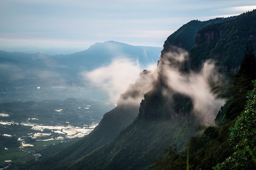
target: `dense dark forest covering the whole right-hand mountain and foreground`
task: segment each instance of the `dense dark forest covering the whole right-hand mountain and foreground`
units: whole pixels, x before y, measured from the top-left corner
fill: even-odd
[[[10,168],[255,169],[255,25],[256,10],[183,25],[165,41],[153,87],[140,106],[119,103],[67,149]],[[217,66],[210,72],[221,73],[205,79],[216,97],[209,107],[167,80],[174,71],[186,75],[185,82],[204,75],[205,63],[212,66],[206,61]],[[127,93],[136,94],[136,86]],[[214,122],[206,122],[212,116],[207,113],[210,106],[216,105],[211,102],[218,101],[223,105],[213,110]],[[208,109],[204,112],[209,117],[199,117],[198,108]]]

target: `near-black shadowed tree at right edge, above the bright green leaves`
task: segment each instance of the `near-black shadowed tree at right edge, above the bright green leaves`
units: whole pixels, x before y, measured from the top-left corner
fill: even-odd
[[[228,98],[227,103],[221,108],[216,120],[225,116],[228,119],[236,118],[246,104],[246,92],[253,89],[252,80],[256,79],[256,57],[252,43],[246,45],[244,59],[238,73],[231,77],[230,82],[222,89],[219,89],[219,96]]]

